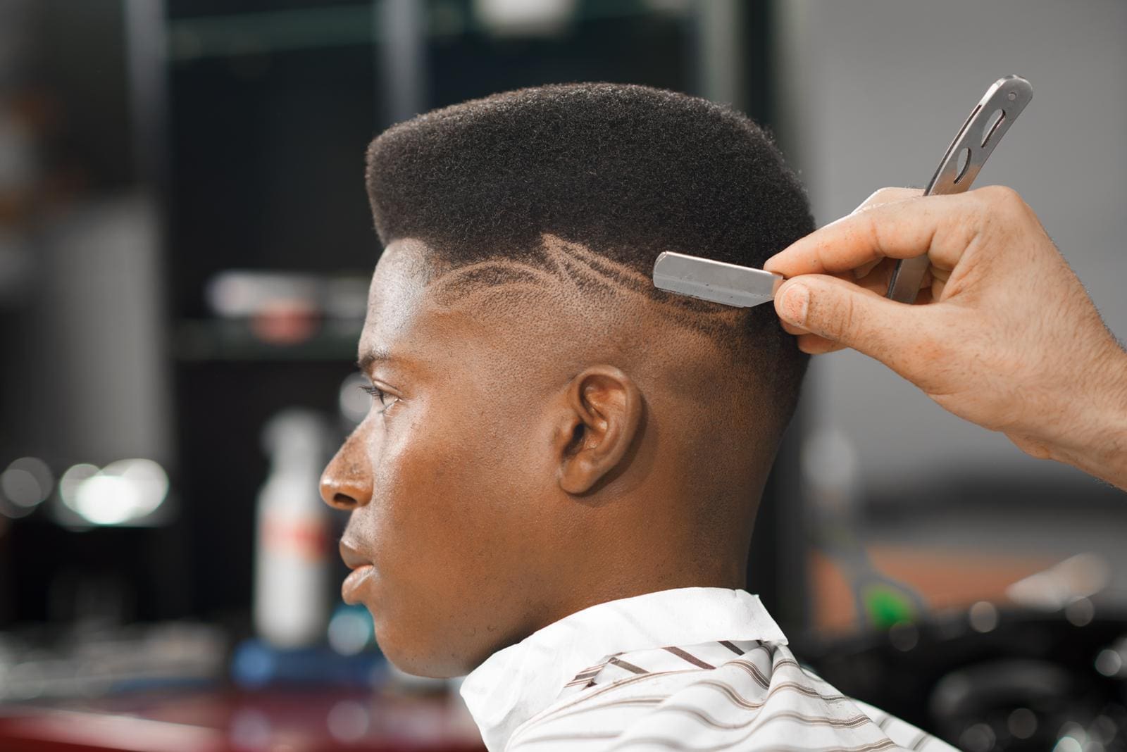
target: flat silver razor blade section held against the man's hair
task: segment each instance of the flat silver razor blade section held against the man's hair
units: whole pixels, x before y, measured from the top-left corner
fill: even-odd
[[[749,308],[770,303],[782,275],[665,251],[654,262],[654,286],[702,301]]]

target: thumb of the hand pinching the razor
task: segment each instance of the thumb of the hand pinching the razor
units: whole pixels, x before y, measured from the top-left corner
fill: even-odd
[[[826,275],[788,279],[775,294],[779,317],[813,334],[853,348],[902,370],[905,350],[917,346],[924,306],[890,301],[853,283]]]

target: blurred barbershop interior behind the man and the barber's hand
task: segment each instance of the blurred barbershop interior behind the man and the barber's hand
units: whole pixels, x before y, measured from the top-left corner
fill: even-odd
[[[486,749],[460,679],[343,600],[318,491],[372,402],[379,133],[668,89],[766,128],[823,226],[928,185],[1011,74],[1036,93],[976,185],[1127,337],[1120,0],[0,0],[0,750]],[[747,590],[956,749],[1127,750],[1127,494],[860,352],[811,359]]]

